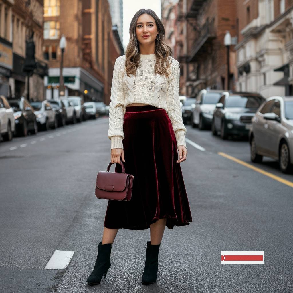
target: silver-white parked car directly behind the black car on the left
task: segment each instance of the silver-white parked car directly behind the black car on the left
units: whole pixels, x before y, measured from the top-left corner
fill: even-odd
[[[39,130],[48,130],[50,127],[55,129],[58,127],[55,111],[47,100],[31,102],[30,104],[35,110]]]

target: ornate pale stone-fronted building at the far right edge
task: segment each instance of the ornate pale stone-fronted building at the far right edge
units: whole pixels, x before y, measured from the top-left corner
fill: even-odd
[[[237,0],[238,81],[266,98],[293,95],[292,0]]]

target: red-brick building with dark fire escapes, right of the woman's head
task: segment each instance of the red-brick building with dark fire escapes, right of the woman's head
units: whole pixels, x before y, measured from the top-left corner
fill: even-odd
[[[174,57],[180,62],[181,94],[195,96],[206,87],[233,89],[236,54],[231,45],[228,86],[224,36],[227,30],[232,37],[236,35],[235,0],[179,0],[174,11],[177,17]]]

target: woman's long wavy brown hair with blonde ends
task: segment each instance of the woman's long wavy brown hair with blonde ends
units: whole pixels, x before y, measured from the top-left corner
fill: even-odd
[[[169,56],[172,53],[172,49],[165,43],[165,28],[163,23],[156,15],[156,13],[151,9],[140,9],[139,11],[137,11],[137,13],[134,14],[131,20],[129,27],[130,40],[125,50],[126,74],[127,76],[130,76],[130,74],[135,75],[136,69],[139,65],[140,52],[138,47],[138,40],[136,37],[136,23],[139,16],[144,13],[147,13],[154,18],[157,30],[159,31],[159,40],[156,40],[155,43],[155,73],[165,75],[168,78],[171,73],[170,65],[172,59],[169,58]]]

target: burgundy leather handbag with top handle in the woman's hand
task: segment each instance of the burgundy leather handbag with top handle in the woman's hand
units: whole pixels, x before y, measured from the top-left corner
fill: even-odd
[[[109,163],[107,171],[99,171],[96,180],[96,197],[105,200],[130,201],[134,176],[125,173],[123,162],[121,162],[122,173],[109,172],[112,162]]]

